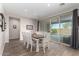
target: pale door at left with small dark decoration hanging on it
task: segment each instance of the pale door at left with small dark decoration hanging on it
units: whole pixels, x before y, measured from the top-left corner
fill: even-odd
[[[9,17],[9,40],[20,39],[20,19]]]

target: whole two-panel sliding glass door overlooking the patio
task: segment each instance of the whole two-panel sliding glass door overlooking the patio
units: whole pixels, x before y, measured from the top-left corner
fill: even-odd
[[[72,12],[52,17],[50,31],[53,41],[70,44],[72,35]]]

